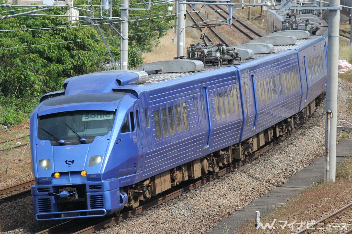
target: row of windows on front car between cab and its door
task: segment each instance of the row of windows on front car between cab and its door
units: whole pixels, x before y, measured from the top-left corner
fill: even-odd
[[[183,130],[189,128],[186,102],[182,102],[181,107],[180,104],[176,104],[175,106],[169,106],[167,110],[166,108],[162,108],[161,115],[159,110],[156,110],[153,112],[153,115],[156,139],[161,139],[162,133],[166,137],[170,134],[175,134],[176,130],[177,132],[182,132],[182,126]]]

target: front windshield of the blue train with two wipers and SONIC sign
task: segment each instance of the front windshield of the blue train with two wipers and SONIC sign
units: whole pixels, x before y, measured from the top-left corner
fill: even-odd
[[[112,130],[114,112],[109,111],[71,111],[39,116],[38,138],[50,140],[51,145],[92,143],[96,136],[105,136]]]

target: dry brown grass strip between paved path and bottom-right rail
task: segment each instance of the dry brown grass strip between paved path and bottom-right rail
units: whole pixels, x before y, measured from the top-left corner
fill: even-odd
[[[316,184],[298,193],[288,203],[278,209],[269,212],[260,219],[263,223],[272,223],[276,220],[306,222],[318,221],[335,210],[342,208],[351,201],[352,195],[352,157],[347,158],[336,169],[336,182]],[[281,229],[276,222],[276,229],[269,230],[255,228],[254,220],[238,228],[235,233],[291,233],[290,227]],[[283,223],[281,223],[283,225]],[[294,227],[297,228],[297,225]],[[306,227],[306,225],[304,225]]]

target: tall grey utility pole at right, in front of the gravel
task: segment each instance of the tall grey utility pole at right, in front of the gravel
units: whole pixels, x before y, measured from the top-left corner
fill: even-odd
[[[339,0],[330,0],[330,7],[340,7]],[[332,112],[332,119],[330,120],[330,148],[329,160],[325,152],[325,169],[328,166],[329,175],[325,181],[335,181],[336,172],[336,131],[337,131],[337,87],[338,87],[338,60],[339,60],[339,29],[340,29],[340,10],[329,9],[329,28],[328,28],[328,66],[327,66],[327,87],[326,87],[326,112]],[[327,120],[326,120],[327,122]],[[328,126],[326,125],[326,128]],[[327,130],[327,129],[326,129]],[[326,131],[327,132],[327,131]],[[325,143],[327,144],[327,136],[325,136]]]

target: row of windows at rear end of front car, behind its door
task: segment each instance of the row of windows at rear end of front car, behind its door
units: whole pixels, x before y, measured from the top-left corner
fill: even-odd
[[[239,113],[237,89],[214,94],[216,119]]]

